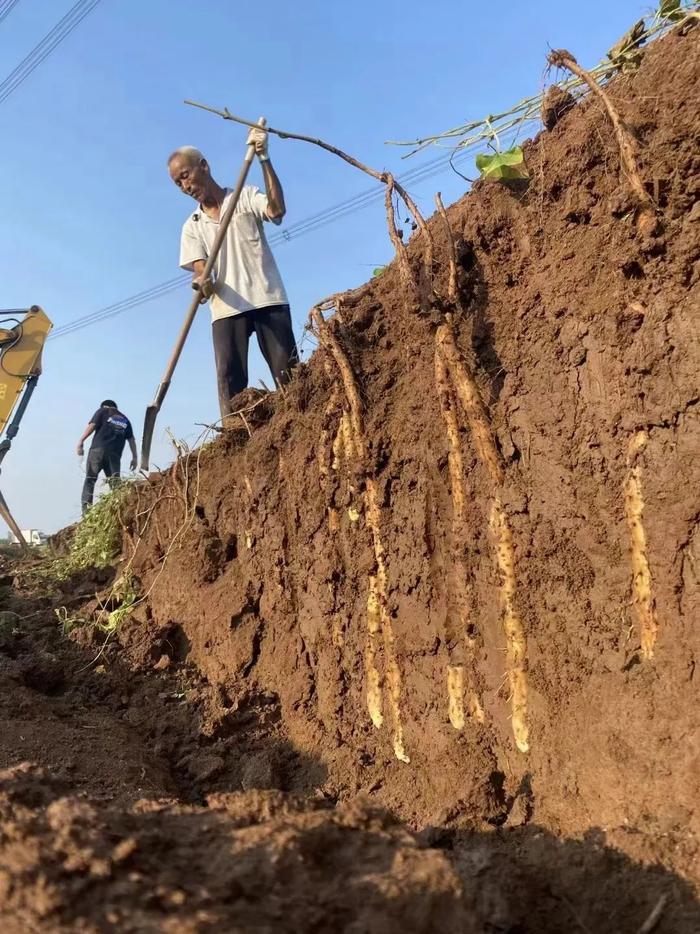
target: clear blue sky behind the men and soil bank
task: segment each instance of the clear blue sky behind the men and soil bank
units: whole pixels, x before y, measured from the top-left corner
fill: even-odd
[[[0,81],[71,5],[17,4],[0,23]],[[549,46],[592,65],[646,10],[638,0],[101,0],[0,103],[0,308],[40,304],[58,327],[177,275],[192,202],[169,180],[167,155],[198,146],[226,184],[245,142],[243,128],[184,98],[264,114],[398,174],[438,153],[402,162],[404,151],[384,140],[508,108],[541,89]],[[285,225],[371,186],[306,144],[273,139],[271,155]],[[435,191],[450,202],[464,185],[448,168],[409,190],[431,214]],[[275,252],[299,337],[316,301],[391,258],[381,201]],[[23,527],[53,531],[78,516],[75,445],[101,399],[117,400],[140,442],[188,301],[183,288],[47,344],[44,375],[0,478]],[[159,419],[152,461],[162,466],[172,458],[166,427],[192,443],[196,423],[218,416],[210,330],[202,308]],[[257,349],[251,375],[269,383]]]

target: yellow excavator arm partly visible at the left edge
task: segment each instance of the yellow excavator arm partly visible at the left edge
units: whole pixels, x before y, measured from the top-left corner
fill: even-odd
[[[41,352],[51,327],[51,322],[38,305],[29,309],[0,310],[0,464],[19,431],[41,376]],[[14,532],[20,545],[26,548],[22,531],[7,508],[2,493],[0,517]]]

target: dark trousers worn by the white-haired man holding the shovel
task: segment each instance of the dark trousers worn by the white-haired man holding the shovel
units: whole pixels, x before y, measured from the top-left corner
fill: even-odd
[[[299,355],[289,305],[254,308],[213,322],[214,358],[221,417],[231,414],[231,399],[248,385],[248,342],[255,332],[275,386],[289,382]]]

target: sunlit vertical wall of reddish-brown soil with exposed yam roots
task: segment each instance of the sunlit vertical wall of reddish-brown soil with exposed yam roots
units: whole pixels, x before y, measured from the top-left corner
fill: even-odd
[[[365,459],[339,433],[349,406],[321,346],[284,394],[139,494],[125,553],[138,541],[132,568],[149,596],[122,640],[139,663],[194,665],[216,688],[222,782],[245,787],[236,723],[263,712],[263,732],[274,721],[306,763],[261,753],[246,767],[270,785],[334,801],[364,792],[417,828],[596,827],[671,864],[694,847],[699,54],[697,30],[669,36],[608,89],[659,209],[652,236],[591,99],[527,145],[527,190],[480,182],[448,211],[458,345],[504,465],[512,592],[493,480],[454,397],[462,464],[450,471],[435,375],[445,304],[421,307],[396,263],[328,324],[359,387]],[[439,216],[430,230],[444,297]],[[409,244],[414,270],[424,245]],[[527,642],[526,753],[509,614]]]

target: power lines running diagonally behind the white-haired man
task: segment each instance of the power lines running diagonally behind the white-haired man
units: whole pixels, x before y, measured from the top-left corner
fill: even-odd
[[[468,155],[469,153],[467,150],[459,152],[457,156],[452,158],[452,162],[463,162]],[[399,181],[404,185],[404,187],[417,184],[418,182],[423,182],[426,179],[432,178],[433,176],[443,172],[449,164],[449,157],[438,156],[437,158],[431,159],[422,165],[416,166],[414,169],[404,173],[404,175],[399,176]],[[298,221],[296,224],[291,224],[284,230],[273,233],[268,238],[268,242],[270,243],[270,246],[281,246],[284,243],[289,243],[296,237],[300,237],[308,233],[313,233],[315,230],[318,230],[327,224],[334,223],[343,217],[348,217],[351,214],[355,214],[357,211],[363,210],[370,204],[380,200],[383,197],[384,186],[375,185],[372,188],[366,189],[364,192],[359,192],[357,195],[354,195],[345,201],[341,201],[339,204],[333,205],[330,208],[326,208],[324,211],[320,211],[318,214],[314,214],[301,221]],[[116,315],[122,314],[123,312],[137,308],[139,305],[153,301],[156,298],[162,298],[164,295],[169,295],[176,289],[182,288],[189,284],[190,281],[191,276],[189,274],[167,279],[165,282],[161,282],[159,285],[155,285],[150,289],[144,289],[141,292],[137,292],[128,298],[122,299],[120,302],[115,302],[114,304],[107,305],[105,308],[100,308],[89,315],[84,315],[81,318],[76,318],[74,321],[69,321],[67,324],[64,324],[52,331],[49,340],[55,340],[57,337],[66,337],[67,335],[74,334],[76,331],[80,331],[85,327],[106,321],[109,318],[113,318]]]

